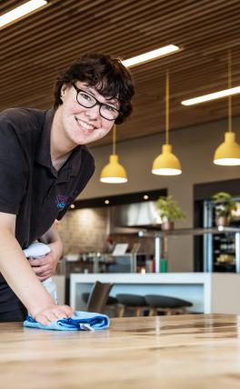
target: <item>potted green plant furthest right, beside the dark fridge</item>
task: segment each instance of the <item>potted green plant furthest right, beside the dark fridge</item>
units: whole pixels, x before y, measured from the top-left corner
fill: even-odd
[[[231,194],[218,192],[212,195],[215,204],[215,225],[229,225],[232,212],[236,210],[236,203]]]

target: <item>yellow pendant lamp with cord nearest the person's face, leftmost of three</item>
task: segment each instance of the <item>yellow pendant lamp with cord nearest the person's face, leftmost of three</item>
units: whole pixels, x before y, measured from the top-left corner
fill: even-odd
[[[113,127],[113,154],[109,155],[109,164],[102,170],[101,183],[124,184],[127,182],[124,166],[118,163],[118,155],[115,154],[115,125]]]

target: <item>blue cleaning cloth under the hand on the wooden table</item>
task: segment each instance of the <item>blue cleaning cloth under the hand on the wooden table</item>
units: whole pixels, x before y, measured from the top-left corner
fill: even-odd
[[[29,314],[26,316],[24,327],[40,328],[41,330],[60,331],[95,331],[108,328],[110,319],[106,314],[75,311],[75,315],[65,319],[58,319],[51,324],[40,324]]]

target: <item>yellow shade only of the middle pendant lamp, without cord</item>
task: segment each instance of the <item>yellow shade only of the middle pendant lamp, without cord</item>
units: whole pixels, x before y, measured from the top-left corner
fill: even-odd
[[[154,160],[152,173],[154,175],[181,175],[182,168],[177,157],[172,153],[172,145],[163,145],[162,154]]]

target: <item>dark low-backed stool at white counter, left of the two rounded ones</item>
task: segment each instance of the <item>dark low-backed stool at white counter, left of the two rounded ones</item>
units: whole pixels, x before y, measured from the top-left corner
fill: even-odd
[[[133,311],[135,316],[142,316],[149,307],[145,303],[145,297],[138,294],[116,294],[118,302],[117,315],[123,317],[126,310]]]

